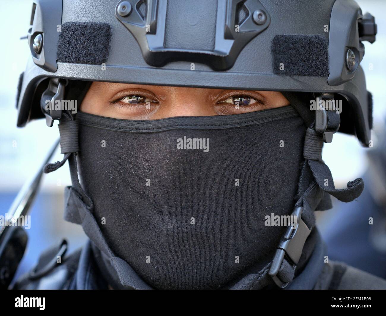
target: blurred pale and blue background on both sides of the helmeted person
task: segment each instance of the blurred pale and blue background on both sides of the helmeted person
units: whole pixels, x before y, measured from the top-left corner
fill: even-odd
[[[381,135],[384,133],[382,129],[386,116],[386,62],[384,57],[386,19],[383,18],[382,13],[386,12],[386,2],[384,0],[357,2],[363,13],[368,11],[376,17],[378,24],[376,42],[374,44],[365,42],[364,44],[366,54],[361,65],[366,72],[367,89],[373,95],[375,130]],[[24,71],[27,58],[30,58],[27,40],[20,39],[20,37],[27,35],[32,2],[30,0],[2,0],[0,7],[0,27],[3,31],[3,49],[0,51],[0,60],[3,61],[0,77],[2,113],[0,116],[0,215],[4,215],[23,183],[37,171],[47,151],[58,139],[59,133],[58,128],[48,128],[44,120],[29,123],[25,128],[16,127],[17,83],[20,73]],[[12,14],[16,10],[17,19]],[[381,141],[374,133],[372,139],[374,149],[381,146]],[[337,188],[345,187],[347,182],[360,176],[365,176],[366,185],[366,177],[371,182],[367,151],[361,148],[354,136],[344,134],[336,134],[334,141],[324,146],[323,159],[330,167]],[[58,150],[52,161],[61,159],[62,155]],[[63,220],[63,191],[67,185],[71,185],[67,163],[59,170],[44,175],[41,190],[30,211],[32,214],[31,228],[27,230],[29,242],[17,275],[29,271],[36,264],[43,250],[51,245],[59,244],[63,238],[69,241],[69,251],[84,243],[86,237],[81,227]],[[356,212],[352,211],[354,203],[356,203]],[[386,247],[384,237],[386,213],[384,207],[374,202],[374,198],[370,195],[347,205],[349,207],[342,203],[335,203],[333,210],[318,212],[318,226],[322,235],[328,244],[337,245],[337,247],[330,247],[332,250],[329,255],[334,257],[332,259],[335,257],[340,259],[340,254],[346,255],[351,258],[352,262],[348,262],[349,264],[367,271],[371,270],[373,273],[375,271],[378,275],[384,275],[386,270],[384,259],[386,257],[386,249],[384,249]],[[375,208],[377,208],[376,211],[374,211]],[[376,217],[375,215],[378,214],[378,223],[383,223],[379,224],[380,227],[376,227],[375,233],[374,229],[366,230],[370,225],[368,225],[369,216],[364,211],[370,212],[369,216]],[[359,224],[361,225],[358,224],[355,216],[360,217]],[[346,226],[346,230],[340,230],[338,234],[337,231],[342,223]],[[356,224],[362,228],[356,228]],[[362,235],[359,234],[359,230]],[[378,237],[374,237],[374,234]],[[355,249],[352,249],[353,245]],[[345,250],[347,252],[342,254],[342,251]],[[357,254],[355,258],[352,255],[354,250]],[[369,250],[374,252],[369,253]],[[379,257],[374,257],[375,254]],[[377,268],[376,265],[379,266],[378,270],[374,270]]]

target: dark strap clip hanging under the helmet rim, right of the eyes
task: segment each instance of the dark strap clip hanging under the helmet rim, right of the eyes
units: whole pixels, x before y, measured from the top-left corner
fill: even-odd
[[[316,98],[315,131],[323,134],[325,143],[332,142],[332,135],[340,126],[339,113],[335,112],[335,101],[332,93],[322,93]]]

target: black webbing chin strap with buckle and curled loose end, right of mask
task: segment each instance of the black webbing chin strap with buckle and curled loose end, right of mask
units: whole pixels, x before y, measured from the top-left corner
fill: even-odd
[[[322,113],[322,112],[320,112]],[[320,113],[317,113],[320,115]],[[287,229],[281,238],[280,244],[276,250],[275,257],[271,263],[269,275],[279,287],[285,287],[292,281],[296,265],[298,264],[299,253],[303,251],[303,246],[315,225],[315,210],[326,210],[331,208],[330,196],[332,195],[343,202],[350,202],[359,197],[362,193],[364,183],[361,178],[347,183],[347,188],[336,189],[331,171],[322,161],[322,149],[325,133],[330,133],[331,139],[340,125],[340,116],[334,111],[325,111],[327,114],[327,124],[325,128],[318,132],[313,129],[315,122],[306,130],[303,157],[303,163],[299,188],[295,203],[295,213],[301,214],[298,228],[295,233]],[[298,210],[298,211],[296,211]],[[295,259],[294,259],[295,258]],[[279,264],[290,262],[291,269],[281,269],[278,273]]]

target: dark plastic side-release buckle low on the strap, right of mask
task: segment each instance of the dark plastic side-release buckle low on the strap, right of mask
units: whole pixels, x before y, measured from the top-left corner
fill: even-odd
[[[291,214],[291,225],[287,227],[283,237],[281,237],[278,248],[274,255],[273,261],[268,271],[268,275],[272,277],[275,284],[281,288],[288,285],[289,282],[284,282],[280,279],[279,271],[283,264],[284,257],[289,259],[293,269],[299,262],[306,239],[311,233],[305,222],[301,219],[303,207],[295,207]],[[292,222],[293,220],[293,222]]]

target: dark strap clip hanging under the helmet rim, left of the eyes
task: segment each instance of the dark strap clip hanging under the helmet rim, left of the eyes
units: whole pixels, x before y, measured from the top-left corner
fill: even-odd
[[[51,78],[46,91],[42,94],[40,107],[44,116],[46,116],[46,123],[48,127],[52,127],[55,119],[60,119],[62,117],[61,104],[58,105],[55,104],[55,102],[61,102],[61,100],[64,99],[65,86],[65,80]]]

